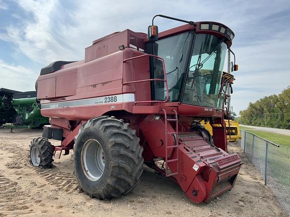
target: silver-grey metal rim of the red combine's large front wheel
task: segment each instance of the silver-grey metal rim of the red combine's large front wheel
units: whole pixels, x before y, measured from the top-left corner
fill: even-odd
[[[105,168],[105,155],[100,143],[95,139],[87,140],[81,156],[85,175],[92,181],[99,180]]]

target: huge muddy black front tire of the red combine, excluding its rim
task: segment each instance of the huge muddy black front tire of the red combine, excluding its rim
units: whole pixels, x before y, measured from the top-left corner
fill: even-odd
[[[103,149],[105,166],[101,177],[92,181],[85,174],[82,150],[87,140],[95,139]],[[91,119],[75,138],[74,168],[80,189],[98,199],[119,198],[138,184],[143,172],[143,148],[135,130],[114,117]]]

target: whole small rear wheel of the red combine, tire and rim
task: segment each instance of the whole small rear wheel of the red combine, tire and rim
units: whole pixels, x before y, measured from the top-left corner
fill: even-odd
[[[46,138],[33,139],[30,145],[30,163],[41,168],[50,168],[53,162],[54,146]]]

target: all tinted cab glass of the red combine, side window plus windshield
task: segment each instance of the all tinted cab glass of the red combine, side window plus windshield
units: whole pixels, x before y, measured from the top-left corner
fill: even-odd
[[[223,40],[208,34],[194,37],[194,32],[185,32],[149,44],[150,53],[165,61],[169,101],[221,106],[218,105],[218,94],[227,50]],[[163,78],[161,61],[151,61],[151,77]],[[152,88],[154,100],[166,98],[164,82],[153,81]]]

